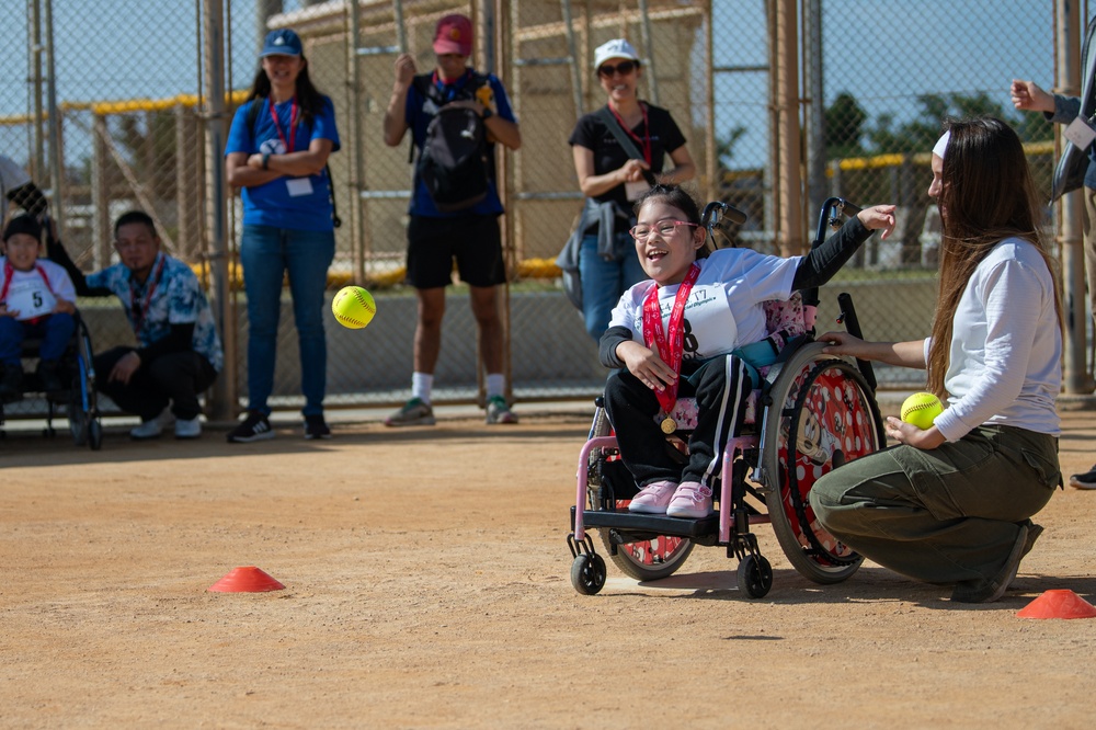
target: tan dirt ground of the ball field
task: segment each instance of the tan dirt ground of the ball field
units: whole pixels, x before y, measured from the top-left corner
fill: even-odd
[[[767,525],[760,601],[703,547],[661,584],[610,562],[582,596],[564,538],[589,421],[522,412],[319,443],[115,427],[99,453],[9,433],[0,726],[1092,727],[1096,619],[1016,612],[1096,602],[1096,492],[1055,493],[995,604],[870,563],[815,585]],[[1063,419],[1063,471],[1086,470],[1096,413]],[[287,588],[207,591],[239,566]]]

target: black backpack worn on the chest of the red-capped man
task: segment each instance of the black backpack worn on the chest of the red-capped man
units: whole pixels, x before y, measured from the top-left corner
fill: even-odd
[[[488,82],[475,75],[465,88],[468,99]],[[487,197],[493,170],[483,119],[466,107],[445,105],[431,75],[416,76],[414,85],[438,110],[426,126],[415,176],[426,185],[430,197],[442,213],[475,206]],[[414,141],[412,141],[412,153]]]

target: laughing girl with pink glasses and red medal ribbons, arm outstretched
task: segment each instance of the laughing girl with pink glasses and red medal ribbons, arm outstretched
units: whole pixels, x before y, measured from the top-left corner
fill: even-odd
[[[788,259],[750,249],[706,254],[696,201],[675,185],[652,187],[636,213],[630,232],[650,278],[624,293],[601,339],[602,364],[618,368],[605,410],[641,487],[629,510],[701,518],[711,513],[723,447],[760,384],[756,368],[775,361],[763,303],[827,282],[874,230],[890,235],[894,206],[861,210],[810,254]],[[697,401],[684,465],[666,442],[680,427],[670,415],[678,397]]]

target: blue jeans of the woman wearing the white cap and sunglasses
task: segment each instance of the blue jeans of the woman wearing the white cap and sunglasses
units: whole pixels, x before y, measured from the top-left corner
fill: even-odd
[[[579,249],[579,277],[582,280],[582,317],[586,332],[597,342],[609,326],[613,307],[632,284],[648,278],[636,254],[628,231],[617,231],[616,249],[620,258],[606,261],[597,254],[597,232],[587,233]]]

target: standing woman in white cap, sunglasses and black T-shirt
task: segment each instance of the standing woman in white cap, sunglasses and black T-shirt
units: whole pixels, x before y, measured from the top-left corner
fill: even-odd
[[[586,201],[558,263],[579,274],[581,290],[570,287],[568,294],[597,342],[620,295],[647,278],[628,235],[636,224],[632,206],[655,182],[692,180],[696,166],[670,112],[637,95],[642,68],[630,43],[614,38],[598,46],[594,68],[607,102],[582,116],[568,140]],[[667,155],[674,166],[669,170]]]

